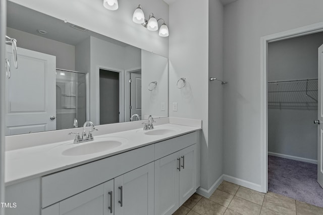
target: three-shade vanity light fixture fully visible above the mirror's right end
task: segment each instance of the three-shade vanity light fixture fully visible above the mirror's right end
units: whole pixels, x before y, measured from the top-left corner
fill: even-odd
[[[137,24],[141,24],[143,27],[147,28],[149,31],[157,31],[158,30],[158,21],[163,20],[163,24],[161,24],[159,29],[159,36],[161,37],[168,37],[169,31],[168,27],[165,24],[164,19],[156,19],[153,16],[153,13],[149,14],[149,19],[146,20],[145,15],[143,13],[143,8],[141,5],[136,8],[135,12],[133,13],[132,21]]]

